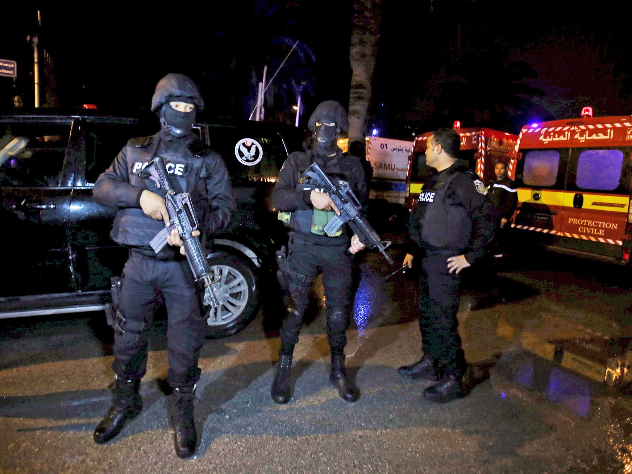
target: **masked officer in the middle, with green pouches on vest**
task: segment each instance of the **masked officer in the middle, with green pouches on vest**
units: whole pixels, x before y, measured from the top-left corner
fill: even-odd
[[[331,347],[329,380],[343,399],[356,401],[358,389],[344,370],[344,346],[351,301],[351,253],[360,252],[364,244],[354,234],[349,246],[346,224],[333,236],[325,234],[327,222],[340,212],[327,193],[301,183],[301,174],[316,162],[334,184],[339,179],[347,181],[361,201],[367,198],[367,186],[360,159],[343,154],[337,146],[338,138],[349,130],[343,107],[334,100],[322,102],[310,117],[308,127],[314,138],[312,147],[307,152],[293,152],[288,156],[272,191],[272,204],[280,211],[279,219],[292,230],[288,242],[290,298],[281,327],[279,365],[271,395],[276,403],[287,403],[291,398],[289,375],[294,346],[298,343],[310,284],[322,272],[327,338]]]

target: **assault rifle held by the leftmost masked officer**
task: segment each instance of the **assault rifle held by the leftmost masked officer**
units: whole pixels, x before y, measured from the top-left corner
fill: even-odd
[[[200,245],[200,240],[197,237],[191,235],[191,232],[198,229],[197,217],[195,217],[195,210],[191,204],[191,196],[189,193],[176,193],[171,185],[171,179],[167,173],[162,157],[155,157],[149,166],[145,167],[138,176],[143,179],[150,178],[159,189],[163,189],[166,193],[165,204],[167,206],[167,212],[169,212],[170,226],[166,226],[150,242],[150,245],[154,249],[155,253],[159,253],[164,246],[167,245],[167,237],[171,234],[173,229],[178,230],[185,246],[186,260],[189,262],[193,277],[196,282],[202,282],[204,284],[204,298],[202,303],[205,307],[209,307],[210,310],[217,308],[219,303],[215,292],[219,288],[219,277],[214,276],[210,272],[209,262],[206,260],[206,256]],[[204,319],[207,319],[204,317]]]

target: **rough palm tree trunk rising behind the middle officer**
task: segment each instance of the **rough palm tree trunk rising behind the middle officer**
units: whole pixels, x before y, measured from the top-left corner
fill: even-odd
[[[356,1],[353,3],[351,23],[351,93],[349,94],[349,143],[363,141],[367,131],[368,107],[371,103],[371,82],[379,40],[380,1]]]

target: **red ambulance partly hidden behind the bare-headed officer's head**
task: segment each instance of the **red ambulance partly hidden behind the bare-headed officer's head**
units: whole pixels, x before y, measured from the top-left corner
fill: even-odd
[[[507,164],[507,176],[514,179],[516,174],[516,143],[518,135],[491,128],[461,128],[455,121],[454,130],[461,136],[461,152],[459,159],[480,176],[485,186],[494,181],[494,165],[498,161]],[[416,207],[419,191],[423,183],[437,172],[426,165],[426,143],[432,135],[431,131],[417,135],[411,154],[408,155],[406,169],[406,199],[404,207],[411,210]]]

